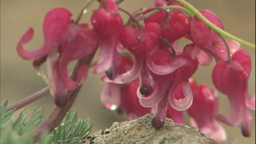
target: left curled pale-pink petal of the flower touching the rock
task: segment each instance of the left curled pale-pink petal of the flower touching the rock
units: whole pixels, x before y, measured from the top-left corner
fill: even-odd
[[[156,90],[153,92],[153,94],[147,97],[144,97],[142,94],[140,94],[140,89],[138,88],[137,95],[138,95],[138,98],[140,99],[140,104],[146,108],[155,106],[163,98],[167,88],[168,88],[168,84],[156,85]]]

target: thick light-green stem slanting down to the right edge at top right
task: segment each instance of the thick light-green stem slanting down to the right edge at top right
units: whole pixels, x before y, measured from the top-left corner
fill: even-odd
[[[188,10],[190,10],[192,13],[194,13],[198,18],[200,18],[200,20],[202,20],[207,26],[209,26],[212,30],[214,30],[215,32],[222,34],[223,36],[226,36],[227,38],[230,38],[232,40],[235,40],[237,42],[239,42],[240,44],[244,44],[245,46],[249,46],[251,48],[255,49],[255,44],[252,44],[250,42],[247,42],[245,40],[242,40],[241,38],[238,38],[236,36],[233,36],[232,34],[218,28],[216,25],[212,24],[209,20],[207,20],[196,8],[194,8],[194,6],[192,6],[191,4],[189,4],[188,2],[186,2],[185,0],[176,0],[177,2],[179,2],[180,4],[182,4],[185,8],[187,8]]]

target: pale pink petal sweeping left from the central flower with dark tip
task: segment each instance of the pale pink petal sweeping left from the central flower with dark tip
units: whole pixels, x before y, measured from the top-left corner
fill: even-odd
[[[107,76],[103,76],[102,80],[104,82],[113,82],[116,84],[124,84],[124,83],[131,82],[138,76],[140,69],[142,68],[142,64],[143,64],[143,57],[136,56],[134,65],[132,66],[131,70],[129,70],[124,74],[116,76],[114,80],[110,80]]]

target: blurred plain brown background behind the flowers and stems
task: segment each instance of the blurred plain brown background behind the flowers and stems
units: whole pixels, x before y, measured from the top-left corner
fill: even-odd
[[[68,8],[74,18],[78,16],[86,0],[1,0],[1,104],[8,98],[9,104],[14,104],[27,96],[46,87],[46,84],[36,70],[32,62],[22,60],[16,54],[16,44],[19,38],[29,27],[35,31],[34,38],[26,44],[27,50],[33,50],[42,45],[42,22],[46,12],[55,7]],[[239,38],[255,44],[255,0],[190,0],[193,6],[198,9],[207,9],[214,12],[222,20],[224,29]],[[152,6],[153,0],[126,0],[121,6],[130,12],[140,7]],[[82,17],[81,22],[90,22],[92,10],[98,8],[98,2],[94,2],[87,14]],[[124,22],[127,16],[123,16]],[[184,44],[181,44],[184,45]],[[249,85],[249,94],[252,96],[255,90],[255,50],[242,46],[252,56],[252,72]],[[45,66],[44,66],[45,68]],[[211,83],[212,66],[199,68],[196,76],[199,82],[208,86]],[[93,132],[101,128],[108,128],[112,122],[124,121],[125,115],[119,116],[116,112],[106,110],[100,103],[100,92],[104,86],[100,77],[102,74],[93,75],[90,71],[87,81],[84,83],[74,106],[77,108],[81,118],[90,117],[96,122]],[[220,112],[228,114],[228,102],[225,96],[220,96]],[[28,116],[36,105],[44,107],[45,116],[54,107],[50,95],[26,106]],[[239,128],[224,126],[228,139],[235,144],[255,143],[255,111],[250,111],[254,117],[252,136],[244,138]],[[16,112],[17,116],[18,112]]]

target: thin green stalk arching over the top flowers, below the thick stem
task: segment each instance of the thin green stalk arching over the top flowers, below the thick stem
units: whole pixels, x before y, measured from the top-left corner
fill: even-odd
[[[165,10],[170,10],[170,9],[177,9],[177,10],[182,10],[185,14],[187,14],[190,18],[193,18],[192,14],[186,9],[186,8],[183,8],[181,6],[164,6],[162,7],[163,9]],[[144,20],[158,12],[160,12],[161,10],[153,10],[152,12],[149,12],[148,14],[145,14],[144,16],[140,17],[138,19],[138,21],[141,21],[141,20]]]

